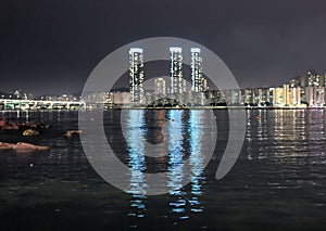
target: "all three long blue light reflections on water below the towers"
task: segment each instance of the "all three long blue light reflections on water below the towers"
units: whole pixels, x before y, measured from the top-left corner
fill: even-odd
[[[203,205],[200,202],[202,194],[201,183],[204,180],[202,176],[203,159],[201,155],[202,132],[201,126],[202,111],[158,111],[154,114],[154,120],[151,129],[155,130],[154,143],[158,144],[158,152],[161,163],[166,162],[170,190],[171,216],[176,215],[179,220],[190,218],[190,213],[203,211]],[[187,117],[185,119],[185,117]],[[153,117],[152,117],[153,118]],[[143,171],[147,169],[145,142],[149,128],[146,126],[145,111],[129,111],[126,119],[126,143],[128,152],[129,166],[129,190],[133,194],[130,201],[131,217],[143,218],[146,216],[146,198],[143,195],[148,188]],[[163,141],[167,141],[167,150]],[[153,140],[152,140],[153,141]],[[188,145],[186,145],[188,143]],[[164,158],[166,156],[166,158]],[[192,176],[190,176],[190,197],[187,191],[183,189],[185,158],[189,157]],[[135,224],[130,227],[137,227]]]

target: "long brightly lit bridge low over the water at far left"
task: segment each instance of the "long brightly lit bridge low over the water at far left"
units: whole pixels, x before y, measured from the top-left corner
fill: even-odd
[[[0,110],[78,110],[80,107],[85,107],[85,102],[0,99]]]

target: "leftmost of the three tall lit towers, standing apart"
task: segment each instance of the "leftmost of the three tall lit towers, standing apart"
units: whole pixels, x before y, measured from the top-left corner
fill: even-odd
[[[140,48],[129,50],[130,102],[142,103],[143,100],[143,53]]]

